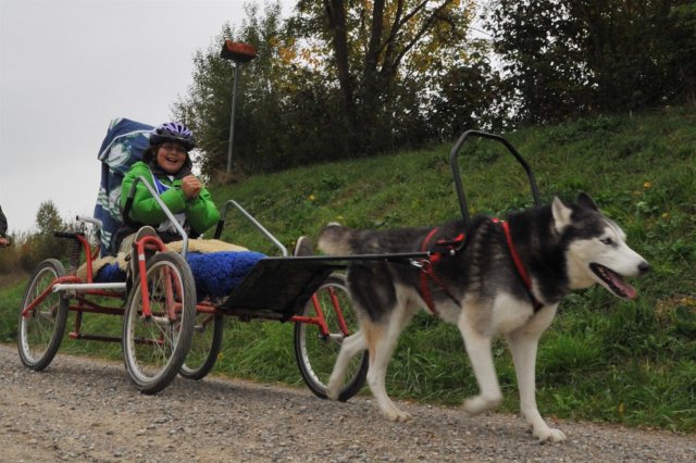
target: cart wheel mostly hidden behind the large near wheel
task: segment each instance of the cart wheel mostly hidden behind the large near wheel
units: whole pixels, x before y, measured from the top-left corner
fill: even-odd
[[[221,314],[198,312],[194,323],[191,348],[178,372],[188,379],[202,379],[213,370],[222,348],[224,320]]]

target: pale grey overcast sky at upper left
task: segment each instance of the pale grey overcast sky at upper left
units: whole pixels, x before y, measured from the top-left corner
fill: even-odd
[[[289,14],[293,1],[282,2]],[[90,215],[109,122],[157,125],[192,83],[192,55],[244,0],[0,0],[0,205],[10,232],[41,202]],[[222,48],[222,43],[220,45]]]

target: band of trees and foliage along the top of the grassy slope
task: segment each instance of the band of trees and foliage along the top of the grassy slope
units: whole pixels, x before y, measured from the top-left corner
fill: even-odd
[[[298,1],[287,18],[273,2],[246,11],[196,53],[194,83],[173,108],[219,182],[419,149],[464,128],[696,102],[688,0],[497,0],[489,39],[470,37],[474,3],[459,0]],[[223,174],[234,76],[220,57],[225,39],[259,51],[239,67],[234,176]]]

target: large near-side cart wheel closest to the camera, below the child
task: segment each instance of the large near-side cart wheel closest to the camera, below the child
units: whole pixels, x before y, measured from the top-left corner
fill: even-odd
[[[142,316],[142,288],[134,285],[123,320],[123,360],[136,387],[156,393],[178,373],[191,343],[196,286],[186,260],[161,252],[146,274],[150,317]]]

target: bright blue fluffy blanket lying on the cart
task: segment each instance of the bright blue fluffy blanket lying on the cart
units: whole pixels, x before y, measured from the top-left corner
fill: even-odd
[[[196,281],[196,293],[201,300],[207,296],[222,298],[235,289],[251,268],[265,255],[260,252],[211,252],[201,254],[189,252],[186,256]],[[126,274],[119,264],[105,265],[99,271],[95,281],[125,281]]]

